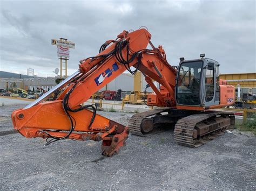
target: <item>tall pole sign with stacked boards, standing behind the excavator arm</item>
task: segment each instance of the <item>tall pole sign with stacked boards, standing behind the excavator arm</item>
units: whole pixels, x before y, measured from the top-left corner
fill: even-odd
[[[56,45],[58,49],[58,56],[60,57],[60,79],[62,79],[62,60],[65,60],[65,78],[68,77],[68,58],[69,58],[69,48],[75,48],[75,43],[68,41],[68,39],[60,38],[51,39],[51,44]]]

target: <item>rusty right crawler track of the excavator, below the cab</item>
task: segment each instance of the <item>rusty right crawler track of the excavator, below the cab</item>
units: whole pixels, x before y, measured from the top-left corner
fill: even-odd
[[[205,122],[205,125],[211,126],[213,121],[207,121],[208,119],[212,119],[215,116],[223,117],[223,123],[221,120],[219,128],[211,129],[209,132],[204,132],[204,135],[200,136],[200,133],[195,133],[195,128],[199,127],[200,123]],[[230,123],[227,124],[225,118],[230,118]],[[225,121],[225,122],[224,122]],[[177,144],[188,146],[188,147],[199,147],[210,140],[223,135],[226,129],[232,130],[234,128],[234,114],[231,112],[205,112],[203,114],[194,114],[184,118],[179,119],[179,121],[175,125],[174,129],[174,140]],[[194,135],[194,136],[193,136]],[[197,138],[194,138],[197,135]]]

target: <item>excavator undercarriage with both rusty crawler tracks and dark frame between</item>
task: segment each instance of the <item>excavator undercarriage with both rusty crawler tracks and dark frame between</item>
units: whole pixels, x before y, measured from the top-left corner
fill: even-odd
[[[234,114],[220,111],[191,111],[177,109],[154,109],[135,114],[129,121],[133,135],[150,135],[156,129],[174,126],[174,140],[177,144],[199,147],[223,135],[225,130],[233,130]]]

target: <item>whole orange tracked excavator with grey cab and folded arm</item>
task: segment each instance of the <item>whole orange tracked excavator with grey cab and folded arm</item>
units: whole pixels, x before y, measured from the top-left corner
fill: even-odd
[[[111,157],[129,132],[144,136],[158,126],[175,125],[176,143],[197,147],[233,128],[232,113],[210,110],[234,103],[234,87],[219,79],[219,63],[202,54],[196,60],[180,58],[178,67],[171,66],[163,47],[154,47],[150,39],[146,29],[139,29],[107,40],[99,54],[80,61],[77,72],[12,112],[14,129],[28,138],[45,138],[46,145],[63,139],[102,140],[102,154]],[[143,73],[154,91],[147,96],[147,105],[159,107],[135,114],[129,126],[98,115],[95,105],[83,105],[125,70]],[[53,100],[46,102],[51,94]]]

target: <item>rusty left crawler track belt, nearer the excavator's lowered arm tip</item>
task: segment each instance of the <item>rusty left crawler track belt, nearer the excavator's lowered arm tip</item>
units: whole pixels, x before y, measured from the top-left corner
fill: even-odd
[[[160,114],[161,112],[166,112],[169,111],[168,108],[163,108],[163,109],[153,109],[149,111],[145,111],[139,114],[133,115],[128,123],[130,132],[133,135],[138,135],[138,136],[144,136],[143,132],[141,131],[140,124],[142,124],[142,121],[146,117],[150,117],[156,114]]]

